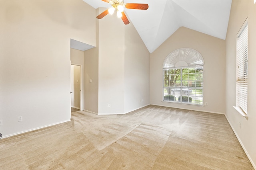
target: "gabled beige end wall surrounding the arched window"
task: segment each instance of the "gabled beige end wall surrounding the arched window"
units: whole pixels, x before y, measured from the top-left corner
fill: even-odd
[[[156,51],[150,55],[150,104],[207,111],[225,112],[225,41],[180,27]],[[162,102],[164,59],[172,51],[180,48],[191,48],[198,51],[204,58],[204,102],[208,106],[193,106]]]

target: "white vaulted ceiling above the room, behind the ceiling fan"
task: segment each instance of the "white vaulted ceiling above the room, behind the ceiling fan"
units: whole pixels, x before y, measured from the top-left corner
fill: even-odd
[[[102,0],[84,0],[84,2],[95,9],[111,7]],[[232,0],[124,0],[124,2],[148,4],[148,10],[125,8],[125,13],[150,53],[182,26],[226,39]]]

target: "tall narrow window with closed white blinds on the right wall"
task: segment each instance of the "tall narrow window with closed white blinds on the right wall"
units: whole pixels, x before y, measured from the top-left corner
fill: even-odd
[[[236,107],[247,114],[248,23],[243,25],[236,39]]]

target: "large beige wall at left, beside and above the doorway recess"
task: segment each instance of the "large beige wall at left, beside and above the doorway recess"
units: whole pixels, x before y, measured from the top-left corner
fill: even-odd
[[[70,39],[96,45],[95,9],[82,0],[1,0],[0,8],[0,133],[70,120]]]

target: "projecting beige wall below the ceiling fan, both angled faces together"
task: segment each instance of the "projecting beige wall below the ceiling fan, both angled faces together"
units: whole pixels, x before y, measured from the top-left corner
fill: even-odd
[[[98,20],[98,31],[98,114],[124,114],[148,105],[150,55],[132,23],[107,15]]]

